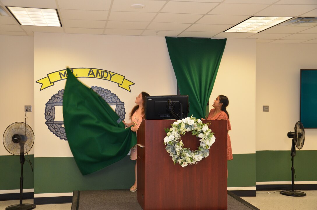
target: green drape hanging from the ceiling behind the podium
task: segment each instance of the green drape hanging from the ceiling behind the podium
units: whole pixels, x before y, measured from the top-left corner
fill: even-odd
[[[179,92],[189,97],[189,116],[204,118],[227,39],[165,39]]]

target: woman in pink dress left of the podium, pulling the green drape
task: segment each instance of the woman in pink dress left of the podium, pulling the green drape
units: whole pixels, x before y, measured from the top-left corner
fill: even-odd
[[[142,122],[142,120],[144,119],[144,102],[145,102],[145,97],[149,96],[148,93],[146,92],[141,92],[136,98],[135,98],[135,103],[136,105],[132,108],[132,111],[129,114],[130,123],[126,123],[125,121],[122,121],[126,127],[130,127],[131,126],[131,130],[134,132],[137,132],[139,129],[139,126]],[[132,126],[133,125],[133,126]],[[131,160],[136,160],[137,159],[137,145],[134,145],[131,148],[130,151],[130,159]],[[133,186],[130,188],[131,192],[135,192],[137,190],[137,163],[135,163],[135,167],[134,167],[134,171],[135,171],[135,182],[133,184]]]

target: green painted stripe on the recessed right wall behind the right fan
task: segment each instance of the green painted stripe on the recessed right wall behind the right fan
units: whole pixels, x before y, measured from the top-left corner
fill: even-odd
[[[256,181],[292,181],[290,151],[256,151]],[[295,181],[317,181],[317,151],[296,150]]]

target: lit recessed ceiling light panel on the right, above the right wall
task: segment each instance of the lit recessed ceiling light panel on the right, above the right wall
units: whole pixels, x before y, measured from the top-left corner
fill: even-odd
[[[249,19],[235,25],[234,27],[224,32],[240,32],[240,33],[259,33],[265,29],[271,28],[281,22],[285,22],[293,17],[256,17],[252,16]]]

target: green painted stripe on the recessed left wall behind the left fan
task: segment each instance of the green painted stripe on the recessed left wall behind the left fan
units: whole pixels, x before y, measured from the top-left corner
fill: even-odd
[[[33,164],[33,172],[27,160]],[[0,156],[0,190],[20,189],[21,163],[20,156]],[[34,155],[25,155],[23,164],[23,189],[34,188]]]

